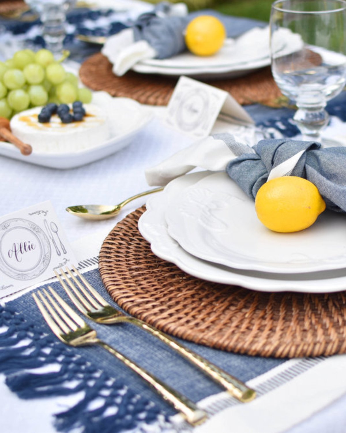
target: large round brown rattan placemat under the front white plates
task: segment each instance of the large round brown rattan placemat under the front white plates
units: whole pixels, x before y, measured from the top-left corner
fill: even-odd
[[[346,352],[346,292],[264,293],[210,283],[159,259],[138,231],[142,207],[109,233],[99,270],[114,301],[160,330],[249,355]]]

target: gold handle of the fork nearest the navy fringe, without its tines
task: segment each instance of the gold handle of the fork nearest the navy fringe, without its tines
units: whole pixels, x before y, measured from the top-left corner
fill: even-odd
[[[160,379],[155,378],[153,375],[151,375],[151,373],[147,372],[135,362],[131,361],[113,349],[112,346],[109,346],[109,344],[101,340],[97,340],[96,344],[103,347],[103,349],[106,349],[109,353],[122,361],[127,367],[131,368],[131,370],[141,376],[141,378],[149,383],[157,391],[157,393],[161,395],[161,397],[167,401],[170,401],[176,410],[179,410],[183,414],[188,423],[192,424],[193,426],[197,426],[207,419],[207,414],[204,410],[199,409],[194,403],[192,403],[192,401],[184,397],[183,394],[180,394],[178,391],[170,388],[169,385],[160,381]]]

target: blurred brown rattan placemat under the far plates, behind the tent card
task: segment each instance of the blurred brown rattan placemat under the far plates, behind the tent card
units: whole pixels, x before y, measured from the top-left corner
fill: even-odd
[[[133,71],[117,77],[112,73],[112,64],[108,59],[97,53],[81,65],[80,79],[92,90],[105,90],[112,96],[129,97],[149,105],[167,105],[178,78],[138,74]],[[270,68],[263,68],[240,78],[213,80],[207,83],[226,90],[241,105],[256,102],[272,104],[282,97]]]

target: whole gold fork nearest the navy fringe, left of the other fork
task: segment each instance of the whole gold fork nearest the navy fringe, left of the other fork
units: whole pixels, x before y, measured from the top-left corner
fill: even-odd
[[[118,352],[112,346],[98,339],[96,331],[88,326],[50,286],[48,286],[48,288],[53,297],[45,289],[43,289],[42,292],[37,292],[40,299],[38,299],[35,293],[32,294],[32,296],[42,316],[48,323],[48,326],[59,340],[74,347],[89,345],[103,347],[103,349],[108,350],[108,352],[141,376],[141,378],[149,383],[161,397],[173,404],[188,423],[196,426],[206,420],[207,415],[204,410],[199,409],[188,398],[144,370],[144,368],[141,368],[138,364],[131,361],[131,359],[122,355],[121,352]]]

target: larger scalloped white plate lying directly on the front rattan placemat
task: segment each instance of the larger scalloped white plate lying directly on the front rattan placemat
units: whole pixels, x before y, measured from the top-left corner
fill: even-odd
[[[197,278],[223,284],[237,284],[258,291],[295,291],[329,293],[346,289],[346,268],[304,273],[273,273],[241,270],[208,262],[186,252],[168,233],[165,213],[189,187],[210,175],[199,172],[171,181],[163,192],[148,198],[147,210],[138,222],[142,236],[151,250],[163,260]],[[318,241],[317,241],[318,242]]]

